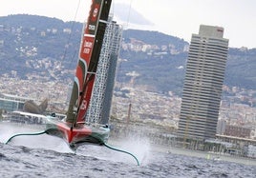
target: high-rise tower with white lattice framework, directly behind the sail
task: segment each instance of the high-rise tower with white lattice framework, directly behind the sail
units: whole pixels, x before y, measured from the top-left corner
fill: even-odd
[[[96,69],[96,82],[86,116],[89,123],[107,124],[109,121],[121,36],[121,26],[109,16]]]

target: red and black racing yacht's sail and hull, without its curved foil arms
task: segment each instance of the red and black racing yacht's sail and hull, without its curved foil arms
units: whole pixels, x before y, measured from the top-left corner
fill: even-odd
[[[88,124],[85,121],[110,7],[111,0],[92,0],[83,29],[67,117],[60,121],[48,116],[45,132],[65,139],[72,149],[84,144],[103,145],[109,137],[110,129],[107,125]]]

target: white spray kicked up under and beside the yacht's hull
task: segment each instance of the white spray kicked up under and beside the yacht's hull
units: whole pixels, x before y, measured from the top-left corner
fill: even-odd
[[[42,130],[43,129],[33,128],[32,126],[28,125],[11,125],[8,123],[0,123],[0,142],[6,143],[12,135],[17,133],[30,133]],[[123,138],[121,141],[115,141],[114,143],[115,144],[110,142],[109,145],[131,152],[137,157],[140,165],[146,165],[149,162],[151,148],[149,139],[147,137],[133,135],[129,138]],[[28,148],[52,149],[58,152],[73,152],[63,141],[63,139],[47,134],[14,137],[11,139],[10,144]],[[135,159],[131,155],[105,147],[85,145],[79,148],[76,151],[76,154],[93,156],[104,160],[135,164]]]

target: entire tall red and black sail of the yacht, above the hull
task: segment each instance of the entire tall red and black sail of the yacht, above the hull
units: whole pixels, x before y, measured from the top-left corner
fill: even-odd
[[[96,68],[100,49],[111,7],[111,0],[92,0],[87,24],[82,35],[75,81],[66,122],[84,122],[92,89],[96,78]]]

